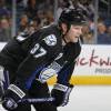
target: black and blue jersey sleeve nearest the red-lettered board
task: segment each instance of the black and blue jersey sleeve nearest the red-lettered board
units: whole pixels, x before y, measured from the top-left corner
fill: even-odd
[[[68,85],[70,84],[70,79],[74,72],[75,60],[81,52],[81,46],[79,42],[70,43],[65,47],[65,59],[67,63],[64,63],[63,68],[58,73],[58,83]]]

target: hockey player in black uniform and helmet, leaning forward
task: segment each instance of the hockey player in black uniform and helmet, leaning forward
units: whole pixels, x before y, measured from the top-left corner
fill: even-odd
[[[2,98],[8,111],[31,111],[26,98],[50,97],[47,80],[57,73],[51,97],[53,102],[33,103],[37,111],[57,111],[65,105],[73,88],[69,80],[80,54],[79,37],[87,23],[82,9],[64,9],[58,24],[41,28],[32,34],[19,34],[0,53],[0,65],[9,73],[10,84]]]

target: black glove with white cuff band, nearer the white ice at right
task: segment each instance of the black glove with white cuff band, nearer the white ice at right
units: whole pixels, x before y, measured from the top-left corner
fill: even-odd
[[[73,85],[63,85],[63,84],[54,84],[51,95],[56,99],[53,104],[56,107],[64,107],[69,102],[69,95],[72,90]]]

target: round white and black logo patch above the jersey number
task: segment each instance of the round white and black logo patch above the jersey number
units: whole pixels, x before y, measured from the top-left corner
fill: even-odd
[[[54,34],[50,34],[50,36],[46,37],[43,40],[46,41],[46,43],[48,46],[51,46],[52,47],[52,46],[56,46],[57,44],[57,38],[56,38]]]

